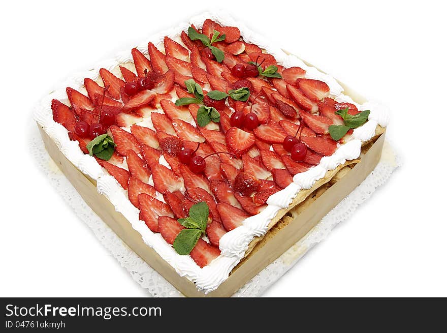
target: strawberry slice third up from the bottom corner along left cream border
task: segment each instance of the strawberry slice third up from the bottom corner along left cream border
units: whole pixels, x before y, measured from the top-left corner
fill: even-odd
[[[138,195],[138,202],[140,204],[141,215],[143,216],[144,222],[153,232],[159,232],[159,217],[174,217],[171,208],[166,203],[159,201],[148,194],[142,193]],[[174,221],[178,223],[176,220]]]

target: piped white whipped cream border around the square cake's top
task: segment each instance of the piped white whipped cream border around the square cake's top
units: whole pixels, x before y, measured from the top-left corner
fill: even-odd
[[[267,207],[258,215],[247,218],[243,225],[227,232],[220,239],[221,254],[213,260],[208,266],[200,268],[190,256],[181,256],[175,252],[159,233],[153,233],[143,221],[139,220],[139,211],[132,205],[125,191],[105,169],[91,156],[82,153],[79,144],[71,141],[68,131],[60,124],[54,122],[51,110],[51,100],[67,100],[66,87],[72,86],[76,89],[82,88],[83,80],[89,77],[93,80],[99,77],[100,68],[108,70],[114,69],[121,63],[132,60],[130,50],[119,52],[115,57],[104,60],[93,66],[85,73],[77,73],[62,82],[56,89],[45,96],[35,107],[34,118],[43,127],[45,132],[54,140],[56,145],[81,172],[97,181],[98,192],[105,195],[115,206],[115,210],[121,213],[132,227],[138,231],[144,243],[153,248],[164,260],[166,260],[177,273],[194,282],[197,288],[204,293],[217,289],[225,281],[231,270],[243,258],[248,244],[255,236],[262,236],[268,231],[268,225],[278,211],[286,208],[295,198],[301,189],[309,189],[315,182],[324,177],[328,170],[336,168],[346,160],[353,160],[360,156],[362,141],[369,140],[375,133],[377,125],[386,127],[389,122],[388,109],[375,102],[365,102],[362,105],[355,103],[349,96],[342,94],[343,88],[331,76],[322,73],[314,67],[304,64],[298,57],[286,54],[280,47],[270,41],[266,41],[263,36],[252,32],[245,24],[236,22],[225,12],[219,13],[205,12],[191,18],[189,21],[182,22],[177,26],[149,36],[137,48],[147,54],[147,42],[152,41],[155,45],[163,45],[164,36],[176,38],[178,40],[179,32],[186,31],[190,24],[201,27],[206,18],[211,18],[222,25],[238,26],[243,39],[246,42],[254,43],[275,56],[278,63],[288,68],[298,66],[306,70],[306,77],[325,81],[330,87],[330,94],[340,102],[349,102],[355,104],[360,110],[371,110],[369,121],[363,126],[354,130],[352,139],[343,145],[339,145],[336,152],[329,157],[324,157],[321,163],[309,170],[296,174],[291,183],[285,189],[273,194],[267,200]]]

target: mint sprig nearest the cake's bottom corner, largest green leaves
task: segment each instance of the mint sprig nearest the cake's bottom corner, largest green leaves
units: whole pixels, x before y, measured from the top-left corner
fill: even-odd
[[[185,227],[175,237],[172,247],[180,255],[189,254],[196,246],[199,238],[205,233],[208,224],[209,208],[206,202],[198,202],[189,208],[189,216],[178,219]]]

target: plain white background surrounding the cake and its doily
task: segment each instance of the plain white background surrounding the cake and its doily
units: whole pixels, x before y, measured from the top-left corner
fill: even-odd
[[[147,296],[38,171],[27,146],[31,109],[70,73],[216,8],[388,104],[387,137],[403,157],[388,184],[264,295],[447,296],[445,8],[286,3],[2,5],[0,296]]]

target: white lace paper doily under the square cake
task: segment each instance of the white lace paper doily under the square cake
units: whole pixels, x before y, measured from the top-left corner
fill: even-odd
[[[36,126],[30,136],[30,150],[41,170],[46,174],[52,186],[74,209],[76,215],[93,231],[116,260],[125,267],[141,287],[154,297],[182,297],[183,295],[152,267],[127,247],[121,239],[104,223],[85,203],[70,181],[57,168],[45,150]],[[349,218],[357,206],[368,199],[377,187],[386,183],[400,161],[393,148],[386,141],[382,158],[376,168],[352,193],[334,207],[301,240],[273,261],[257,276],[248,281],[233,297],[254,297],[261,295],[314,245],[327,237],[330,231],[341,221]]]

